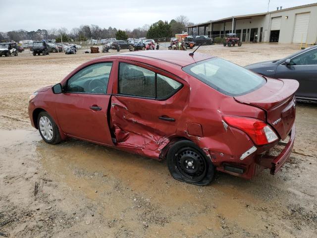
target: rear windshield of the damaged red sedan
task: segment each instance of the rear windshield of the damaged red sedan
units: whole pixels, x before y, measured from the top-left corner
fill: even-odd
[[[228,96],[250,93],[266,83],[262,76],[219,58],[193,63],[183,70]]]

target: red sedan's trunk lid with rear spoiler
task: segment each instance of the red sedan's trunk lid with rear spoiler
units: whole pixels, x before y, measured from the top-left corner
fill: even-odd
[[[298,86],[296,80],[266,78],[263,87],[234,98],[240,103],[263,109],[266,112],[266,122],[281,139],[285,139],[295,121],[295,92]]]

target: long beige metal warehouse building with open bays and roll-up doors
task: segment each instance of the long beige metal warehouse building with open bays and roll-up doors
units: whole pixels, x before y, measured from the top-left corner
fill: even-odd
[[[317,42],[317,3],[265,13],[231,16],[188,27],[189,35],[223,37],[236,33],[243,42]]]

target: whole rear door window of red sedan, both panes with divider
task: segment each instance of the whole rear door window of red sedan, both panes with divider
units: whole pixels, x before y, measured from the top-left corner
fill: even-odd
[[[181,83],[169,77],[133,64],[120,63],[119,94],[162,100],[181,87]]]

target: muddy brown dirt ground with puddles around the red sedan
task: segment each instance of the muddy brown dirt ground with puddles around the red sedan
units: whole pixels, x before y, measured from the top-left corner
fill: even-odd
[[[198,51],[246,65],[298,50],[245,44]],[[29,95],[112,54],[82,52],[0,58],[0,238],[317,237],[317,104],[297,104],[295,146],[277,175],[264,171],[248,181],[218,173],[199,187],[174,180],[165,161],[41,139],[28,118]]]

